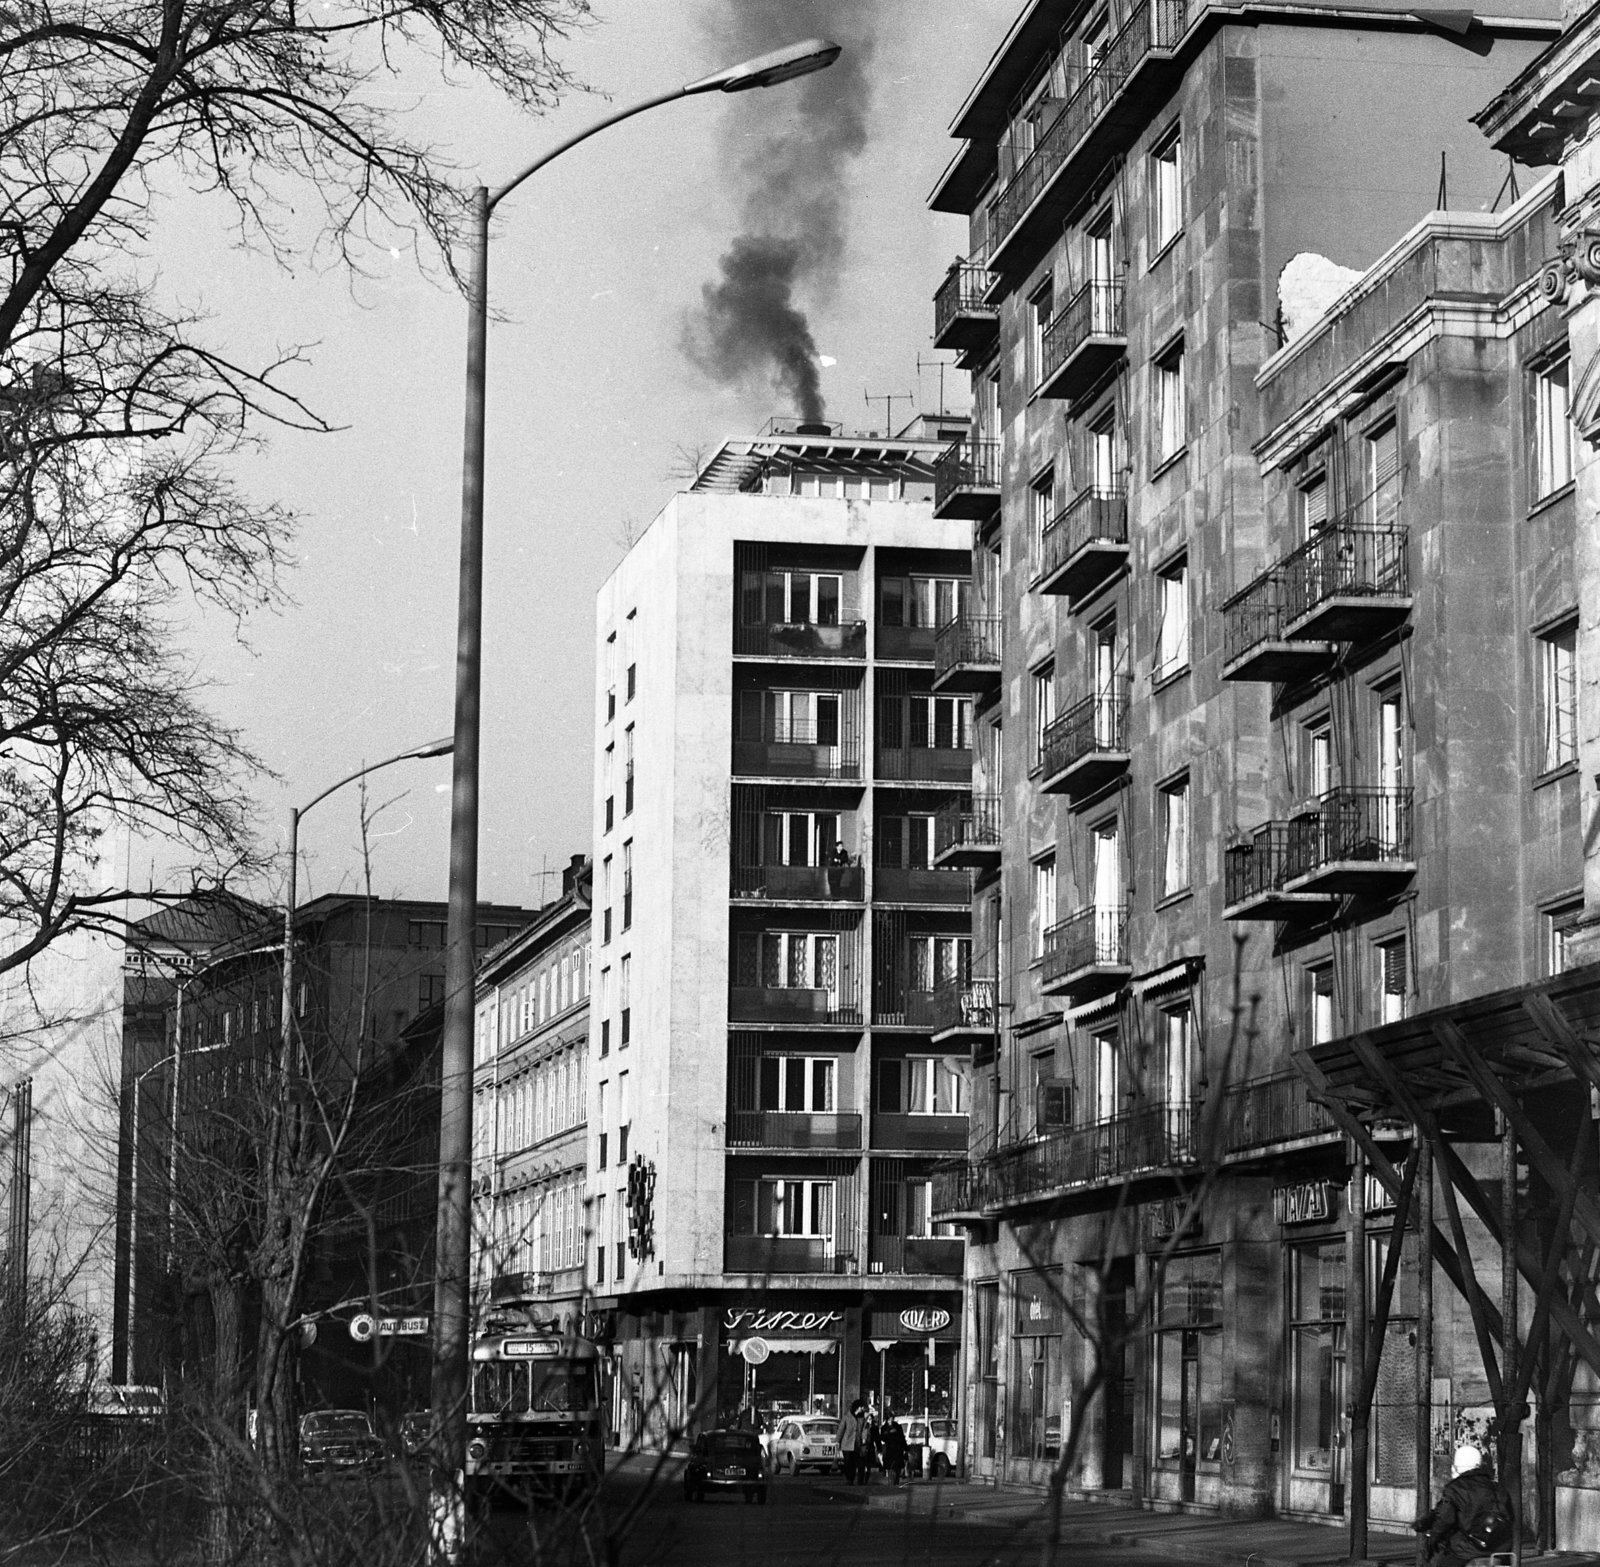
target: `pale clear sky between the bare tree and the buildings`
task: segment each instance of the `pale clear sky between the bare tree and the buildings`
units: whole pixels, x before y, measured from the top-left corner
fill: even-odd
[[[597,0],[563,62],[594,91],[542,118],[490,88],[413,62],[392,88],[469,181],[502,182],[613,106],[744,58],[763,30],[848,35],[864,102],[856,136],[819,136],[805,83],[704,96],[619,125],[522,186],[496,216],[488,347],[483,747],[478,895],[538,904],[590,831],[594,595],[670,493],[682,453],[754,435],[792,411],[781,389],[718,384],[686,351],[718,258],[750,229],[835,222],[838,246],[797,283],[827,415],[882,429],[866,394],[939,405],[931,295],[965,246],[962,219],[926,195],[955,150],[947,126],[1018,0]],[[830,26],[832,24],[832,26]],[[862,50],[861,35],[870,32]],[[866,59],[861,59],[866,54]],[[843,62],[842,62],[843,64]],[[835,67],[838,69],[838,67]],[[813,78],[813,90],[826,78]],[[605,96],[600,96],[605,94]],[[819,219],[773,158],[798,147],[837,203]],[[762,176],[750,178],[752,158]],[[826,205],[826,203],[824,203]],[[779,210],[784,208],[784,210]],[[294,603],[190,632],[197,682],[270,775],[262,836],[282,844],[291,805],[451,728],[466,307],[437,267],[373,248],[366,275],[283,267],[240,248],[214,203],[171,195],[160,288],[211,317],[237,357],[306,344],[290,376],[331,435],[275,434],[240,461],[261,498],[296,509]],[[690,333],[693,336],[693,333]],[[947,357],[947,355],[946,355]],[[946,405],[966,407],[946,373]],[[910,403],[894,403],[901,424]],[[450,762],[373,779],[373,890],[443,898]],[[302,826],[299,896],[357,890],[360,800],[334,796]],[[144,861],[141,864],[139,861]],[[170,874],[155,845],[130,853],[134,884]],[[547,872],[547,874],[546,874]],[[280,887],[259,893],[278,896]]]

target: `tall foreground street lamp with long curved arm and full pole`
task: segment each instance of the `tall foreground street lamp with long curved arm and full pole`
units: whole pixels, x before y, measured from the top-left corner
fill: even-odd
[[[498,190],[472,197],[467,274],[467,415],[461,458],[461,587],[456,619],[456,760],[450,810],[450,919],[440,1045],[438,1232],[434,1284],[435,1545],[461,1548],[461,1482],[467,1445],[467,1292],[472,1228],[472,1005],[478,917],[478,685],[483,661],[483,407],[488,360],[490,214],[530,174],[621,120],[698,93],[746,93],[826,70],[840,46],[806,38],[630,104],[570,136]]]

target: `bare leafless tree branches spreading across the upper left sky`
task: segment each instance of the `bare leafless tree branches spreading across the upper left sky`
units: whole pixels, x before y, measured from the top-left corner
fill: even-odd
[[[280,597],[293,519],[227,458],[272,424],[326,426],[163,312],[133,275],[171,178],[240,238],[360,266],[402,234],[451,267],[450,170],[376,91],[432,50],[530,110],[570,85],[552,50],[589,0],[10,0],[0,10],[0,970],[117,925],[110,823],[186,845],[208,879],[253,863],[240,736],[174,650],[181,594],[235,616]]]

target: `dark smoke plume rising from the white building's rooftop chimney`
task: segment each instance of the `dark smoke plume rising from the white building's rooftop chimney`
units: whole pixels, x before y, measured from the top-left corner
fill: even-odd
[[[816,343],[797,288],[832,291],[845,256],[846,166],[867,142],[870,5],[859,0],[720,0],[707,50],[733,62],[819,34],[845,46],[827,70],[730,101],[728,162],[744,187],[744,232],[706,283],[683,346],[725,386],[768,381],[805,419],[824,415]],[[778,94],[789,94],[779,98]]]

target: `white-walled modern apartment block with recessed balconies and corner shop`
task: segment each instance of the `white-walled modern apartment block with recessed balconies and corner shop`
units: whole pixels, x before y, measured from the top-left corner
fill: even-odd
[[[933,517],[965,423],[728,442],[600,589],[590,1285],[624,1441],[955,1391],[931,1178],[982,1020],[934,853],[971,773],[949,671],[998,669],[936,631],[971,592],[971,527]]]

